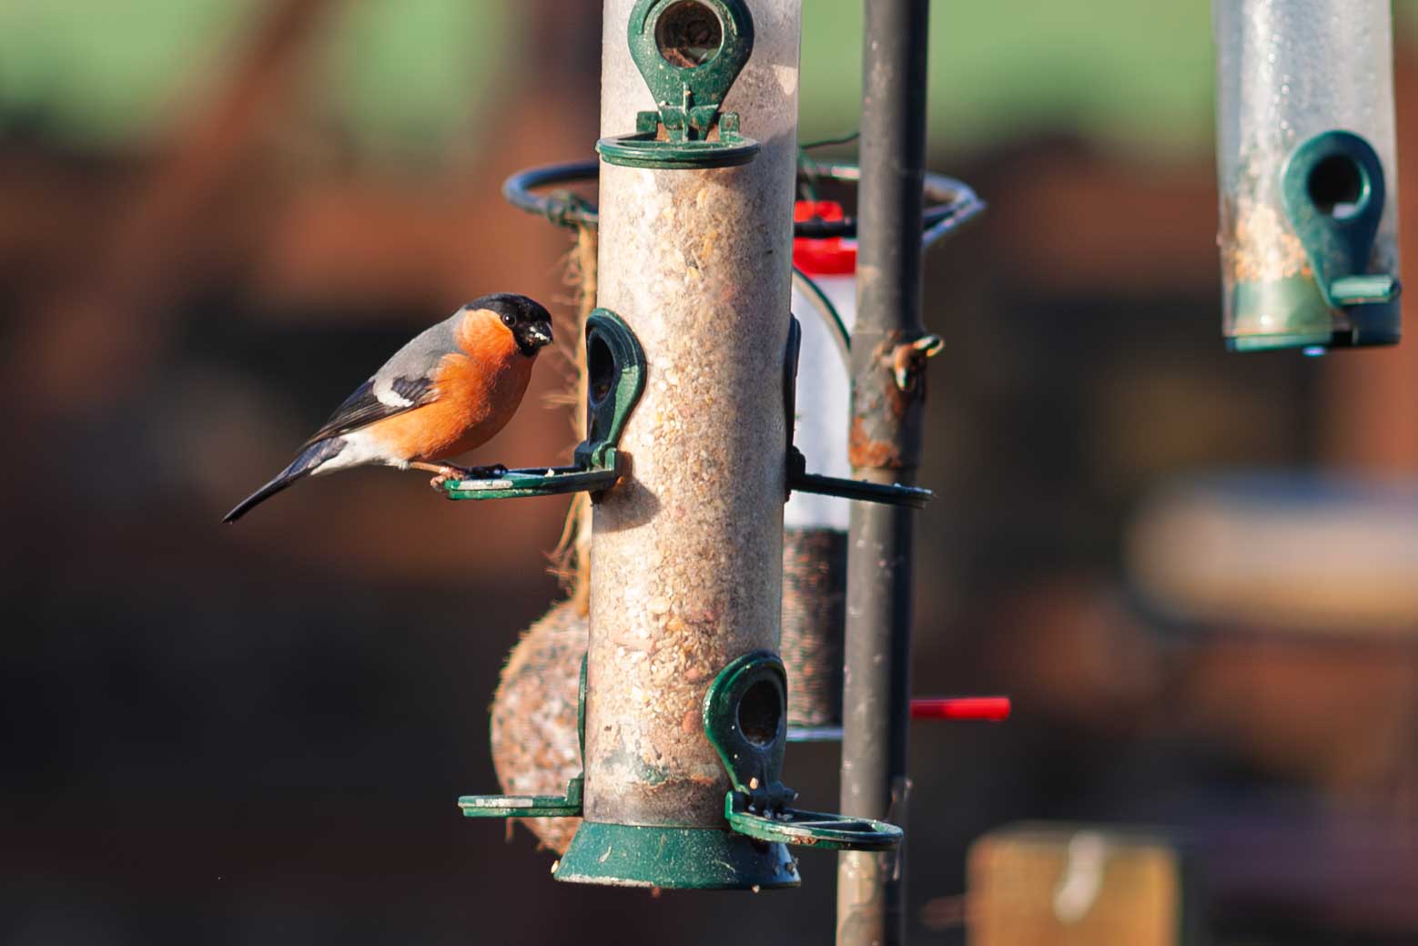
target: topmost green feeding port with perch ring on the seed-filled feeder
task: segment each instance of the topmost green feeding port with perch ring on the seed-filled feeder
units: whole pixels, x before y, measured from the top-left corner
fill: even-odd
[[[746,165],[759,143],[739,133],[725,96],[753,54],[753,17],[743,0],[640,0],[627,27],[630,54],[655,96],[635,133],[603,138],[596,150],[627,167]]]

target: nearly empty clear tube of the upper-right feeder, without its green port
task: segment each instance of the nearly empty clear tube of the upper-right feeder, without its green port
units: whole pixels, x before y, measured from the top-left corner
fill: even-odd
[[[1367,252],[1358,257],[1367,258],[1357,260],[1353,275],[1397,278],[1388,0],[1214,0],[1212,24],[1228,346],[1397,342],[1397,298],[1346,305],[1329,292],[1327,272],[1322,272],[1322,286],[1312,258],[1314,240],[1303,221],[1296,226],[1295,210],[1296,200],[1305,203],[1303,211],[1313,207],[1319,226],[1339,233],[1354,228],[1351,217],[1373,197],[1375,206],[1367,210],[1378,217],[1377,234],[1371,244],[1361,240]],[[1292,187],[1288,208],[1286,162],[1306,142],[1334,132],[1367,142],[1383,180],[1371,180],[1361,162],[1323,159],[1299,176],[1303,190]]]

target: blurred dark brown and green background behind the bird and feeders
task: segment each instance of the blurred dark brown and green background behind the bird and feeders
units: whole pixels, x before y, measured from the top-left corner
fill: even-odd
[[[1015,716],[913,732],[913,936],[963,942],[971,840],[1055,820],[1183,841],[1217,942],[1418,942],[1418,620],[1188,617],[1130,559],[1201,471],[1411,489],[1418,346],[1224,353],[1205,3],[986,6],[933,10],[933,166],[991,208],[927,262],[913,672]],[[856,4],[810,7],[804,139],[859,94]],[[4,942],[828,942],[831,857],[651,898],[458,817],[564,503],[362,471],[218,522],[461,302],[570,315],[569,238],[498,190],[591,155],[598,37],[556,0],[0,3]],[[545,359],[476,460],[564,460],[564,379]],[[832,807],[834,746],[788,767]]]

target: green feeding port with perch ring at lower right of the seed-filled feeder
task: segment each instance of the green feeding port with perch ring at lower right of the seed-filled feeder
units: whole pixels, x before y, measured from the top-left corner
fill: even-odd
[[[759,841],[832,851],[883,851],[900,844],[895,824],[798,811],[797,791],[778,780],[787,746],[787,672],[771,651],[730,662],[705,695],[705,735],[733,790],[725,796],[729,827]]]

